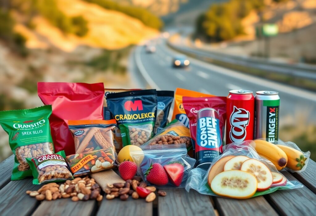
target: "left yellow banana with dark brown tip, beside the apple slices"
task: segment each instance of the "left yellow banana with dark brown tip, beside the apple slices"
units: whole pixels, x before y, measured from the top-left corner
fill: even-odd
[[[277,147],[275,144],[261,139],[254,140],[254,142],[256,143],[256,151],[258,155],[271,161],[274,166],[276,166],[277,170],[280,171],[286,166],[288,156],[282,149]]]

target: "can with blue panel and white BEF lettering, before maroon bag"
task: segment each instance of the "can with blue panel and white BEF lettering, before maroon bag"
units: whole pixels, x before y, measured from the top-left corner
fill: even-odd
[[[213,108],[200,109],[197,112],[196,167],[208,169],[213,159],[222,153],[223,145],[218,113]]]

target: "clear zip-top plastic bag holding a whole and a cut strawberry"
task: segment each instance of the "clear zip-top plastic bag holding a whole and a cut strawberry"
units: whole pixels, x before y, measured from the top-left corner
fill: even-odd
[[[140,146],[131,151],[137,171],[148,185],[183,188],[196,160],[187,155],[185,144]]]

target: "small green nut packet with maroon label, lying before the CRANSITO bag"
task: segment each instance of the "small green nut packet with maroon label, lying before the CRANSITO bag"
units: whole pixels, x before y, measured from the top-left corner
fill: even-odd
[[[27,158],[33,174],[33,184],[47,182],[61,182],[73,179],[65,161],[65,152],[60,151],[56,154],[42,155],[34,158]]]

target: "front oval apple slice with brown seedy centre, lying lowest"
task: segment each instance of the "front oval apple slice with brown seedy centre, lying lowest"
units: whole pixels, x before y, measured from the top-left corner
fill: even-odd
[[[256,193],[257,184],[256,177],[249,172],[228,170],[213,178],[211,189],[219,196],[247,199]]]

